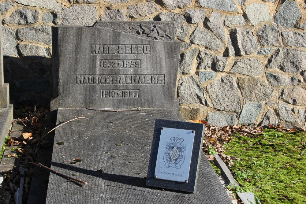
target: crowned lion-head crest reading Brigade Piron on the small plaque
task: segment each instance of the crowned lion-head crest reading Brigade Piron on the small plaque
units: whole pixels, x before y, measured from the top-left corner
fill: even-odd
[[[170,143],[171,142],[171,143]],[[184,163],[185,156],[184,151],[186,150],[186,145],[183,138],[179,138],[177,134],[176,137],[171,137],[170,142],[167,142],[166,152],[164,154],[164,162],[167,168],[175,167],[180,169],[181,165]]]

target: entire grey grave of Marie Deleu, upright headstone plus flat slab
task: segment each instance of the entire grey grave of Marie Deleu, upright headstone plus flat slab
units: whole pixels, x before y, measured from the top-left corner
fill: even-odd
[[[184,120],[175,98],[180,43],[173,36],[173,22],[52,28],[51,109],[57,123],[86,119],[56,129],[51,168],[88,185],[50,174],[46,203],[231,203],[205,156],[196,193],[146,186],[156,118]],[[81,161],[63,163],[73,158]]]

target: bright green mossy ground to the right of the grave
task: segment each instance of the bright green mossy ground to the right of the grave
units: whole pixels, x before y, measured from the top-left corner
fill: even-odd
[[[306,203],[305,138],[305,132],[265,129],[233,136],[225,154],[237,157],[230,167],[233,176],[261,203]]]

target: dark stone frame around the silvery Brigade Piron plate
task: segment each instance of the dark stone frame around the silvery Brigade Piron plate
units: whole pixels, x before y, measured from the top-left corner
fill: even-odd
[[[175,128],[183,130],[194,130],[195,136],[193,140],[193,148],[191,155],[191,165],[189,169],[188,181],[185,183],[171,181],[171,180],[161,180],[155,178],[155,167],[157,161],[157,153],[159,148],[159,140],[162,128]],[[177,191],[186,191],[194,193],[196,191],[196,184],[198,178],[198,171],[200,166],[200,157],[203,145],[203,136],[204,136],[204,124],[200,123],[190,123],[190,122],[181,122],[181,121],[168,121],[156,119],[155,128],[153,134],[153,141],[151,147],[150,161],[147,172],[147,181],[146,185],[151,187],[159,187],[172,189]]]

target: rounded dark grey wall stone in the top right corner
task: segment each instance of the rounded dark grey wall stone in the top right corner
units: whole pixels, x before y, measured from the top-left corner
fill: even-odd
[[[292,28],[301,16],[297,2],[286,0],[276,12],[274,22],[284,28]]]

